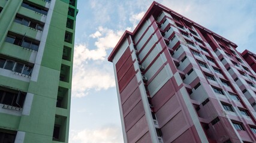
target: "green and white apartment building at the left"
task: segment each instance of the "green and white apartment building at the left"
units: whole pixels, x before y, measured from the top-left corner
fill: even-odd
[[[76,0],[0,0],[0,143],[68,142]]]

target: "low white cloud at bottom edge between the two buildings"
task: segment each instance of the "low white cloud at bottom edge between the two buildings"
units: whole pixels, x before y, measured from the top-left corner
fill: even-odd
[[[85,129],[71,131],[70,142],[79,143],[120,143],[123,142],[122,131],[117,127]]]

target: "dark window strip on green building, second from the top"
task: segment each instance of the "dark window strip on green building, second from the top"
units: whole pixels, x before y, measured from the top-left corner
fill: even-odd
[[[14,22],[31,27],[33,29],[37,29],[43,31],[44,24],[35,20],[31,20],[31,18],[24,17],[23,15],[16,15]]]

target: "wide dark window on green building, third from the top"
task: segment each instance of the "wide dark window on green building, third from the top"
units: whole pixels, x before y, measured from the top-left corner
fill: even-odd
[[[22,46],[24,48],[31,49],[32,51],[38,51],[39,41],[26,37],[25,35],[11,35],[8,34],[5,38],[5,42],[13,43],[14,45]]]

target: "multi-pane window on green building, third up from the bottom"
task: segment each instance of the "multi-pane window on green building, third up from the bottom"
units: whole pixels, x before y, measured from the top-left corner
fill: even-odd
[[[31,66],[26,64],[18,63],[13,60],[7,60],[5,58],[0,58],[0,68],[15,71],[26,76],[31,76],[33,69]]]

